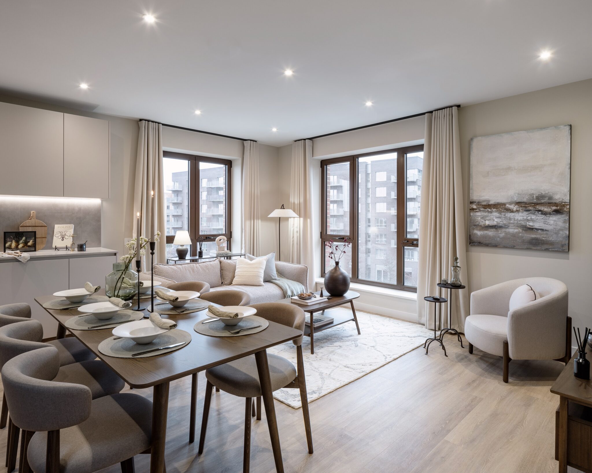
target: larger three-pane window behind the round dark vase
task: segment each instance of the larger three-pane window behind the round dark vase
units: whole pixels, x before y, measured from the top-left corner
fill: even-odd
[[[332,158],[321,169],[321,239],[351,240],[342,266],[352,281],[416,291],[423,145]],[[325,256],[323,274],[332,267]]]

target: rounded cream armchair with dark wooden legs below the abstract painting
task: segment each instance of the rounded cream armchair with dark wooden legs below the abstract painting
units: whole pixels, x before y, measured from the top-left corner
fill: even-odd
[[[540,297],[514,310],[510,297],[529,284]],[[568,291],[561,281],[548,277],[514,279],[471,294],[471,315],[465,320],[469,353],[473,345],[504,358],[503,380],[508,382],[512,359],[571,359],[571,317]]]

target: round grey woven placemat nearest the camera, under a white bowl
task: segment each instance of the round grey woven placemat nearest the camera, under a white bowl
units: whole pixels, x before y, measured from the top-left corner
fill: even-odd
[[[173,345],[179,342],[184,342],[184,345],[175,346],[166,350],[153,351],[152,353],[138,355],[137,357],[131,356],[137,352],[152,350],[154,348],[158,348],[159,346]],[[163,355],[165,353],[178,350],[179,348],[183,348],[189,342],[191,342],[191,333],[185,332],[184,330],[173,329],[157,336],[152,342],[145,345],[139,345],[129,338],[117,338],[112,336],[106,340],[103,340],[99,344],[98,349],[103,355],[107,355],[108,357],[149,358],[157,357],[158,355]]]

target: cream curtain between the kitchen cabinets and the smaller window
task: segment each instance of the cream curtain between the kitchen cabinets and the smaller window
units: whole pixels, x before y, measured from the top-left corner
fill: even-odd
[[[144,120],[140,121],[139,125],[136,185],[134,187],[133,236],[137,237],[136,215],[137,212],[140,212],[141,236],[152,238],[157,230],[160,230],[162,234],[160,241],[156,244],[154,262],[166,263],[162,125]],[[154,210],[152,210],[152,190],[154,190]],[[154,218],[152,218],[153,213]],[[148,248],[148,257],[143,259],[142,271],[146,271],[146,261],[150,261],[149,251]]]

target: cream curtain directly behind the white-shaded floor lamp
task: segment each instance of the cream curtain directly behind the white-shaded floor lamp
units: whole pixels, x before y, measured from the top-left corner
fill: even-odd
[[[308,266],[308,289],[314,288],[316,252],[313,247],[312,169],[313,142],[292,144],[290,206],[298,218],[289,218],[289,261]],[[317,236],[318,237],[318,236]]]

